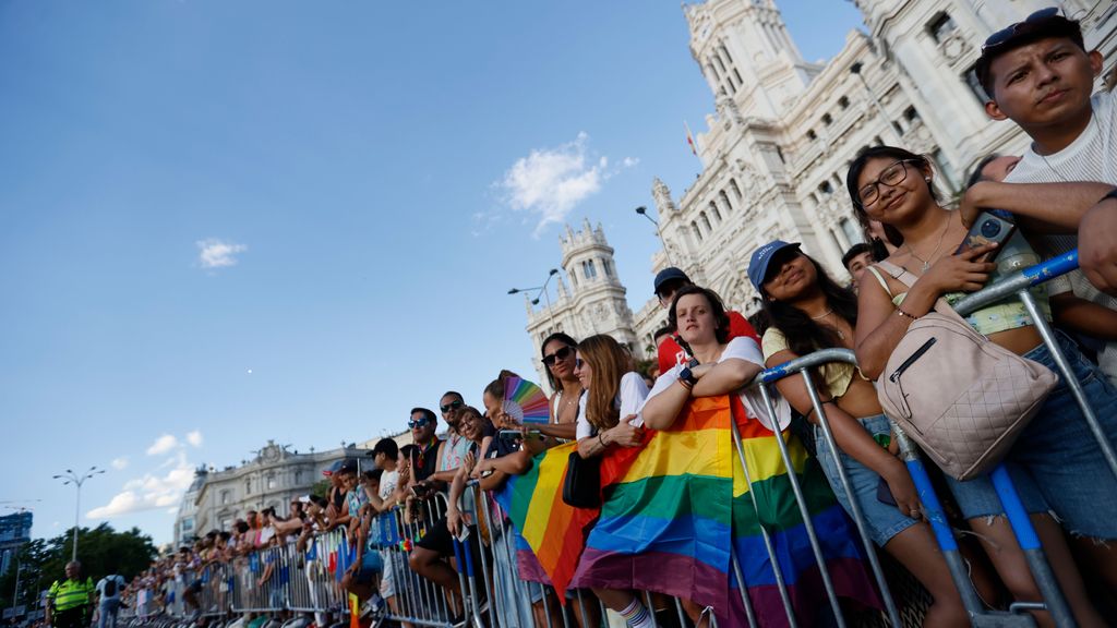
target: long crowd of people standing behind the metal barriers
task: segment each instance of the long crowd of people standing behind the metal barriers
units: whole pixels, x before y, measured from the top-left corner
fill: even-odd
[[[325,497],[294,501],[283,516],[274,510],[250,512],[232,530],[209,532],[128,583],[125,598],[141,613],[156,612],[172,601],[168,583],[189,573],[193,580],[182,601],[201,610],[197,574],[206,565],[274,545],[294,543],[303,551],[315,534],[343,529],[356,555],[341,586],[363,600],[362,615],[405,615],[398,590],[401,567],[443,589],[451,615],[460,615],[469,592],[461,590],[461,565],[452,560],[455,539],[477,530],[484,518],[477,516],[479,507],[494,507],[468,489],[470,480],[496,491],[531,469],[538,454],[572,441],[585,460],[640,448],[650,434],[672,429],[693,399],[731,396],[739,397],[747,420],[773,432],[798,422],[795,438],[812,451],[806,464],[821,469],[832,497],[850,513],[856,502],[872,542],[929,593],[925,626],[966,625],[967,609],[919,492],[897,457],[875,382],[916,321],[1077,246],[1085,273],[1031,292],[1040,314],[1059,330],[1059,349],[1106,437],[1117,446],[1117,106],[1111,93],[1094,94],[1100,69],[1101,58],[1085,48],[1078,23],[1054,9],[993,34],[976,66],[989,95],[986,110],[994,120],[1019,124],[1031,148],[1019,158],[982,160],[956,209],[939,198],[927,158],[884,145],[851,155],[847,188],[868,241],[843,257],[850,283],[830,277],[799,244],[768,242],[752,251],[747,268],[762,303],[751,323],[681,269],[663,269],[653,289],[667,324],[656,334],[658,360],[651,372],[639,372],[627,348],[608,335],[579,340],[554,333],[541,354],[554,391],[547,424],[525,426],[506,412],[504,388],[510,372],[479,391],[480,408],[448,391],[438,412],[422,407],[411,411],[413,445],[399,448],[394,440],[381,440],[365,465],[371,470],[362,470],[355,459],[338,464],[330,470]],[[960,248],[983,211],[995,211],[1019,229],[1000,244]],[[993,344],[1059,373],[1031,312],[1014,297],[965,320]],[[853,350],[858,365],[830,363],[805,375],[819,388],[823,416],[818,416],[803,374],[776,383],[774,416],[748,389],[766,367],[828,348]],[[1058,377],[1060,382],[1003,460],[1075,619],[1081,626],[1105,626],[1104,613],[1117,609],[1117,478]],[[822,419],[839,450],[823,438]],[[849,475],[852,494],[842,488],[839,467]],[[987,477],[960,480],[943,474],[942,479],[952,524],[972,533],[965,535],[963,553],[982,601],[1002,609],[1040,601]],[[408,548],[405,565],[393,563],[389,550],[373,542],[373,522],[388,513],[402,513],[404,521],[422,516],[423,504],[439,493],[448,496],[446,512]],[[495,534],[476,533],[465,546],[484,553]],[[592,525],[585,534],[592,539]],[[488,541],[478,542],[478,536]],[[495,552],[491,560],[500,573],[534,578],[529,573],[538,570],[522,558],[509,561]],[[571,616],[583,628],[601,621],[632,628],[677,622],[670,617],[674,607],[665,612],[662,598],[643,596],[637,574],[618,574],[604,564],[607,559],[584,558],[569,591],[538,589],[525,602],[524,621],[555,621],[561,597],[572,600]],[[784,575],[794,580],[800,574]],[[695,626],[709,624],[709,609],[694,600],[680,603]],[[603,615],[601,608],[607,609]],[[1052,625],[1043,610],[1030,612],[1039,625]]]

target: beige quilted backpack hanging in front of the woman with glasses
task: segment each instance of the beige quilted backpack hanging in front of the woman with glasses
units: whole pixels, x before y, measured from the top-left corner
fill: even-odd
[[[917,279],[878,266],[909,287]],[[1050,369],[993,344],[939,298],[892,350],[877,396],[944,473],[971,479],[1004,458],[1056,383]]]

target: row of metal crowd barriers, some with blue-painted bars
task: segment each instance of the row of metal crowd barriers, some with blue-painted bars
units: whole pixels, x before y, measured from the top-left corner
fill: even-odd
[[[1076,400],[1081,407],[1091,431],[1098,440],[1110,468],[1117,476],[1117,456],[1114,455],[1106,435],[1098,425],[1089,403],[1086,401],[1082,388],[1071,372],[1069,364],[1060,351],[1050,325],[1040,315],[1034,298],[1028,287],[1048,280],[1058,275],[1073,270],[1077,267],[1077,251],[1051,259],[1044,264],[1024,269],[1015,275],[997,282],[955,305],[965,314],[989,303],[1000,301],[1005,295],[1016,294],[1031,313],[1037,329],[1054,356],[1056,363],[1063,374]],[[758,387],[765,408],[772,419],[770,425],[779,425],[773,394],[770,386],[780,379],[792,377],[808,369],[827,362],[847,362],[856,364],[853,352],[844,349],[828,349],[798,358],[787,363],[767,369],[760,373],[751,386]],[[825,413],[814,381],[804,377],[808,396],[819,417],[825,445],[837,451],[837,443]],[[734,449],[744,470],[745,480],[748,477],[748,464],[742,447],[741,435],[735,424],[732,425]],[[963,605],[970,613],[974,626],[1031,626],[1032,618],[1027,610],[1038,608],[1035,603],[1018,603],[1008,612],[985,609],[970,581],[967,569],[958,551],[957,542],[947,523],[943,506],[939,503],[927,469],[924,467],[917,448],[906,437],[904,431],[892,424],[894,434],[900,448],[900,455],[924,505],[924,515],[930,523],[935,537],[946,559],[951,575],[958,588]],[[789,470],[794,468],[787,444],[784,438],[772,435],[780,455]],[[837,456],[836,456],[837,457]],[[840,457],[837,457],[839,463]],[[786,474],[792,492],[800,508],[804,529],[819,567],[822,586],[825,590],[836,626],[844,627],[847,618],[839,603],[834,583],[825,568],[825,559],[814,530],[810,512],[804,499],[803,488],[794,473]],[[1015,488],[1003,467],[997,467],[991,479],[1005,506],[1008,518],[1012,525],[1021,548],[1025,552],[1029,567],[1043,596],[1042,608],[1046,608],[1057,626],[1073,626],[1073,618],[1066,600],[1059,590],[1050,567],[1043,556],[1039,540],[1031,522],[1020,505]],[[838,480],[848,495],[852,496],[850,479],[843,465],[838,465]],[[752,494],[752,492],[750,492]],[[754,506],[755,504],[755,496]],[[521,628],[528,626],[545,626],[569,628],[576,625],[589,628],[599,625],[613,626],[615,618],[610,617],[605,607],[592,593],[583,591],[556,593],[550,586],[531,582],[519,577],[517,568],[516,534],[509,521],[476,482],[467,485],[467,492],[460,508],[464,523],[468,523],[467,537],[454,540],[454,565],[458,573],[459,596],[451,596],[438,584],[420,577],[410,568],[410,553],[418,542],[447,511],[447,501],[442,494],[422,501],[411,502],[408,508],[395,507],[373,518],[369,534],[369,543],[383,559],[382,579],[392,582],[392,596],[389,607],[383,612],[373,616],[373,626],[384,620],[400,622],[404,626],[423,626],[432,628],[451,628],[454,626],[475,626],[490,628]],[[865,554],[873,579],[885,603],[885,616],[891,626],[903,626],[900,612],[892,599],[890,582],[885,575],[865,523],[865,514],[857,499],[850,498],[850,517],[858,530]],[[787,624],[799,626],[801,620],[795,617],[786,579],[780,572],[780,561],[775,554],[770,531],[761,525],[761,534],[770,564],[773,569],[773,580],[780,592],[786,613]],[[352,548],[345,540],[343,531],[321,534],[309,540],[305,551],[297,551],[294,543],[268,548],[238,556],[229,563],[213,563],[193,574],[200,578],[202,588],[197,593],[199,613],[202,618],[228,618],[231,613],[316,613],[319,627],[328,626],[327,615],[337,618],[345,617],[347,593],[341,588],[343,572],[351,564]],[[741,562],[735,550],[731,552],[731,568],[739,582],[739,592],[746,618],[752,626],[758,626],[751,599],[747,593]],[[182,589],[193,582],[192,578],[183,578],[175,582],[175,605],[182,602]],[[687,626],[684,608],[678,599],[665,596],[652,597],[643,591],[645,603],[649,609],[656,607],[657,600],[667,600],[674,606],[680,626]],[[566,594],[573,603],[565,608],[556,608],[556,594]],[[455,600],[451,602],[451,598]],[[593,612],[593,610],[596,612]],[[670,609],[668,609],[670,610]],[[178,609],[170,613],[181,612]],[[713,617],[710,626],[716,626]],[[617,626],[623,626],[619,624]]]

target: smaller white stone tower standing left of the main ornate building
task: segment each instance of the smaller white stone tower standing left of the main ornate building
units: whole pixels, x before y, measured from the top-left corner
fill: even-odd
[[[533,304],[525,296],[527,307],[527,332],[532,336],[532,363],[536,365],[538,382],[546,386],[547,377],[540,362],[543,340],[556,331],[565,332],[582,340],[594,334],[609,334],[629,346],[633,355],[643,358],[643,350],[636,342],[632,331],[632,311],[626,299],[626,289],[617,277],[613,247],[609,246],[599,223],[582,222],[582,229],[574,231],[570,225],[560,236],[562,268],[565,279],[557,279],[557,298]],[[566,280],[570,282],[567,287]]]

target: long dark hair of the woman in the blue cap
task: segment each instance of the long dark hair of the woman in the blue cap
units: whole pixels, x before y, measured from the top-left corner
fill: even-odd
[[[805,253],[800,253],[811,265],[818,277],[819,291],[827,298],[827,307],[834,311],[834,314],[857,326],[857,295],[853,291],[844,288],[830,278],[830,275],[819,265],[819,263]],[[765,295],[763,311],[767,314],[768,326],[783,332],[787,339],[787,349],[796,355],[806,355],[819,349],[841,348],[841,337],[838,332],[820,325],[815,321],[790,303],[772,301]]]

